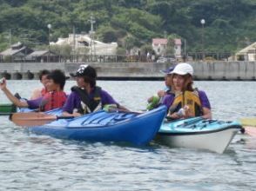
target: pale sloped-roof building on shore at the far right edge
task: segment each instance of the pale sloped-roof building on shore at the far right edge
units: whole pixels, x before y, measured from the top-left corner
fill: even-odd
[[[247,46],[245,49],[239,50],[235,54],[235,61],[256,61],[256,42]]]

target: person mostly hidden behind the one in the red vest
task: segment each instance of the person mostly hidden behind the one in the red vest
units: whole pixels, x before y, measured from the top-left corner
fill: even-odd
[[[39,89],[34,89],[30,100],[35,100],[39,97],[43,97],[46,93],[46,84],[49,81],[49,79],[47,78],[47,76],[50,74],[50,71],[48,69],[43,69],[40,73],[39,73],[39,80],[40,82],[43,84],[43,88],[39,88]]]

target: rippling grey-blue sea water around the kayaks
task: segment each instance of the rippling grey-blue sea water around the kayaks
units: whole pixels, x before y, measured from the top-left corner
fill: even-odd
[[[69,91],[75,82],[67,82]],[[37,81],[9,81],[29,97]],[[118,102],[145,109],[163,82],[104,82]],[[213,117],[256,115],[256,82],[195,82]],[[0,92],[0,102],[7,99]],[[29,134],[0,116],[0,190],[255,190],[256,139],[236,135],[222,155],[152,142],[145,147],[58,140]]]

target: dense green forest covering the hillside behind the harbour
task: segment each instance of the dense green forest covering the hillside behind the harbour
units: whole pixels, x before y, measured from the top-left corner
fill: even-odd
[[[179,37],[187,51],[234,52],[256,41],[255,0],[0,0],[0,50],[31,48],[72,33],[88,33],[120,49],[143,47],[155,37]],[[205,24],[200,23],[205,19]]]

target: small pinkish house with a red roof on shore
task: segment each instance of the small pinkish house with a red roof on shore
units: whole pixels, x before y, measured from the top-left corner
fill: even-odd
[[[152,39],[152,49],[156,52],[158,56],[165,56],[167,50],[167,38],[153,38]],[[174,56],[176,58],[181,57],[181,40],[179,38],[173,39],[173,49]]]

